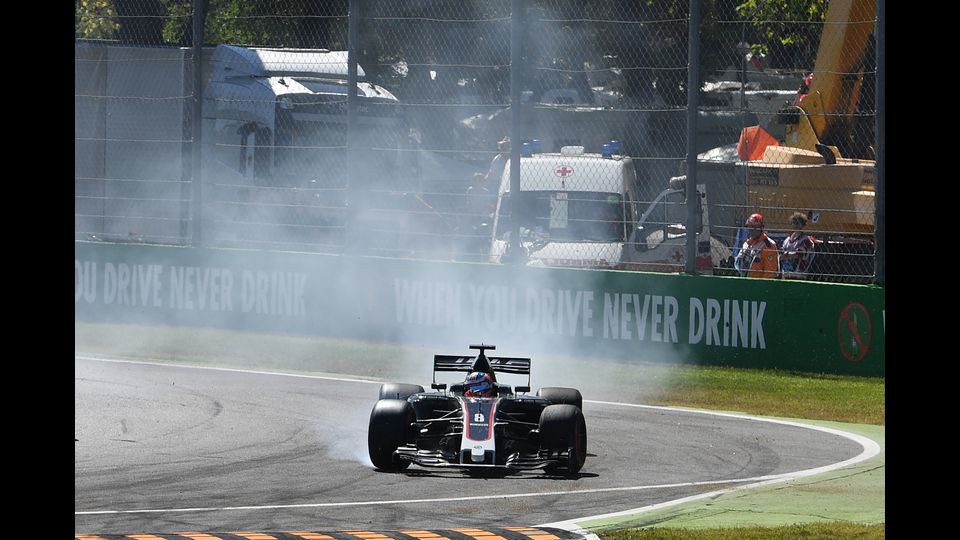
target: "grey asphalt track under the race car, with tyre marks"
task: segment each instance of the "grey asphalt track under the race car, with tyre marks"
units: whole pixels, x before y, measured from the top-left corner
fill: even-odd
[[[375,471],[377,384],[75,360],[75,531],[506,527],[823,467],[863,447],[799,426],[590,401],[577,478]]]

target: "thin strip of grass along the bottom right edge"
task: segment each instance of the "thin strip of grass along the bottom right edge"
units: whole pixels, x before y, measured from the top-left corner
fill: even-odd
[[[627,529],[600,535],[603,540],[874,540],[884,538],[886,525],[810,523],[784,527],[718,529]]]

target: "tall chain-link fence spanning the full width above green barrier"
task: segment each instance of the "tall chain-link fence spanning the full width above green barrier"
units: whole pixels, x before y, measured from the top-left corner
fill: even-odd
[[[874,280],[873,1],[76,13],[78,239]]]

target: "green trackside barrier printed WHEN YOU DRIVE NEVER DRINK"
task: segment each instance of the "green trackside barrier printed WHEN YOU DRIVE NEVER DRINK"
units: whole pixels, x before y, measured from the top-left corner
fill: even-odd
[[[872,286],[77,242],[74,290],[84,321],[884,375]]]

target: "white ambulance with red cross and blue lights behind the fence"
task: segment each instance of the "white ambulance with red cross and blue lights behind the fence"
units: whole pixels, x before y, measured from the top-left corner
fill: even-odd
[[[516,226],[519,257],[528,266],[683,271],[683,181],[673,179],[653,201],[638,199],[636,182],[629,157],[566,146],[559,153],[522,156],[520,193],[515,196],[508,163],[498,191],[490,262],[512,260],[514,254],[508,251]],[[709,242],[698,243],[696,267],[700,273],[712,273],[729,259],[731,250],[710,236],[706,192],[702,185],[697,192],[699,237]]]

